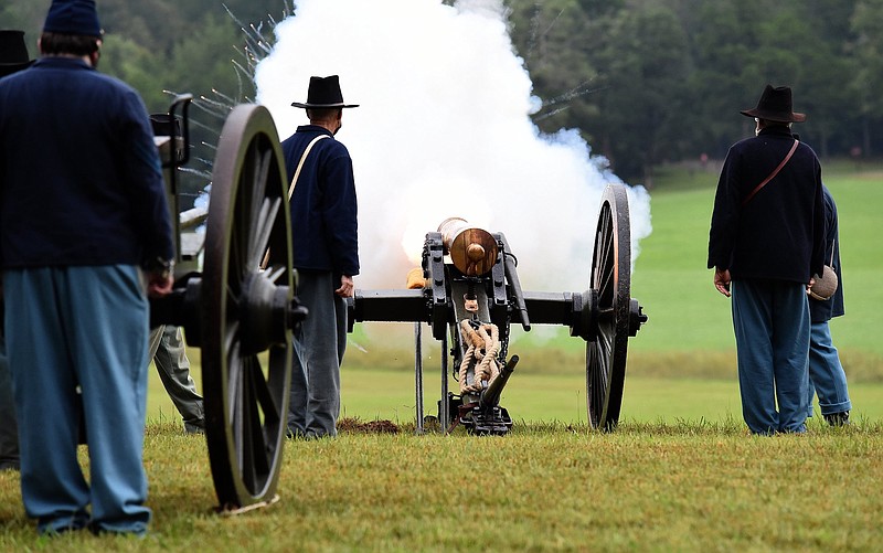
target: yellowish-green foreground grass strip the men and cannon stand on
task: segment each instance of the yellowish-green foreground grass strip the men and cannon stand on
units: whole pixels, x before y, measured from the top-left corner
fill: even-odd
[[[343,433],[286,444],[280,500],[216,503],[204,440],[149,428],[142,541],[35,539],[0,474],[1,551],[874,551],[883,427],[748,436],[741,422],[517,424],[504,437]],[[85,460],[84,460],[85,462]]]

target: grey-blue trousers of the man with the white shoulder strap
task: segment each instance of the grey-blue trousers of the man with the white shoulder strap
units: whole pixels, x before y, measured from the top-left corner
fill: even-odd
[[[295,332],[288,433],[337,436],[340,363],[347,349],[347,301],[330,272],[299,272],[297,297],[309,315]]]

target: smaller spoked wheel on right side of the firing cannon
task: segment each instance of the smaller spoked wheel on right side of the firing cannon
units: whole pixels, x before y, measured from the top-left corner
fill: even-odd
[[[595,318],[594,339],[586,343],[586,401],[593,428],[613,430],[619,421],[629,337],[630,275],[628,196],[624,185],[610,184],[602,196],[588,291]]]

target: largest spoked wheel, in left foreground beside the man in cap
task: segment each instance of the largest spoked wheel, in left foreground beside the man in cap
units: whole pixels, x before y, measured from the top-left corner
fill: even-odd
[[[286,181],[269,111],[234,108],[214,162],[201,289],[205,436],[222,510],[272,502],[281,466],[296,306]]]

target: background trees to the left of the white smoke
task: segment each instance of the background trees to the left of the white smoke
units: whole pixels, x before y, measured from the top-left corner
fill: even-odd
[[[193,155],[182,177],[182,209],[210,182],[214,145],[230,107],[254,98],[243,78],[246,35],[273,38],[291,0],[97,0],[105,30],[99,70],[139,91],[150,113],[169,109],[175,93],[190,108]],[[51,0],[3,0],[0,29],[22,29],[32,56]],[[252,29],[254,25],[254,29]],[[243,30],[245,29],[245,30]],[[254,45],[254,44],[253,44]],[[234,64],[235,62],[235,64]]]

